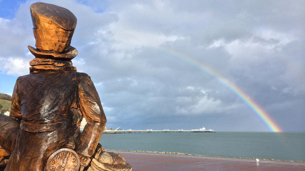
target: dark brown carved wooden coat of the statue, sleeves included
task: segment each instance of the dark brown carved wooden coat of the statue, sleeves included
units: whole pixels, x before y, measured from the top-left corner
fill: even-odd
[[[74,70],[41,70],[19,77],[10,116],[20,122],[20,130],[14,128],[15,145],[1,144],[13,149],[5,169],[9,171],[42,171],[47,157],[62,147],[90,157],[106,124],[92,80]],[[83,116],[88,124],[81,133]]]

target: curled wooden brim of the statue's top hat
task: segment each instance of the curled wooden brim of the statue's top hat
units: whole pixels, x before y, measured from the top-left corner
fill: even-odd
[[[33,54],[37,58],[71,60],[78,54],[78,51],[72,46],[69,47],[68,52],[66,53],[42,52],[40,50],[37,50],[36,48],[33,48],[30,45],[28,45],[27,48],[30,50],[31,54]]]

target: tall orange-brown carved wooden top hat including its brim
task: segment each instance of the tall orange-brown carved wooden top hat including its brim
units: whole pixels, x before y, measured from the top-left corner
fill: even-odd
[[[68,9],[36,2],[30,7],[36,48],[28,46],[36,57],[73,59],[77,50],[70,46],[77,19]]]

